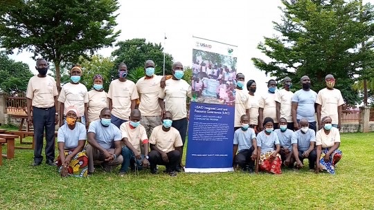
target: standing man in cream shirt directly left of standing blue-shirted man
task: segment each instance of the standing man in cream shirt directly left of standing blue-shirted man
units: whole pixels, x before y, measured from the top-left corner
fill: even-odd
[[[287,120],[287,128],[294,131],[294,122],[292,122],[292,96],[294,93],[290,91],[292,87],[291,78],[285,77],[283,79],[283,89],[276,93],[276,117],[281,119],[284,117]]]

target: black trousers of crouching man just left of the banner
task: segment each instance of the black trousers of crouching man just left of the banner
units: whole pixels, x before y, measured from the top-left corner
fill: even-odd
[[[177,164],[179,164],[179,160],[181,159],[181,153],[177,150],[170,151],[166,153],[168,155],[169,162],[164,162],[162,159],[161,154],[158,151],[152,150],[148,154],[148,161],[150,162],[150,169],[156,169],[157,165],[164,165],[166,166],[166,172],[175,171]]]

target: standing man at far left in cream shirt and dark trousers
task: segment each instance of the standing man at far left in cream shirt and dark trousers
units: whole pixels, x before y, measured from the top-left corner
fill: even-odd
[[[53,77],[46,75],[48,64],[45,59],[37,59],[36,70],[39,72],[30,78],[27,85],[27,121],[34,124],[35,150],[33,166],[42,164],[43,137],[46,130],[46,164],[56,166],[55,159],[55,125],[58,123],[57,86]],[[33,106],[33,109],[31,109]],[[31,117],[31,111],[33,117]]]

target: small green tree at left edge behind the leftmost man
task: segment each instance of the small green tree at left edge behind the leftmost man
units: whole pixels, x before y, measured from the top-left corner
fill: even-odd
[[[33,77],[28,64],[9,59],[0,52],[0,89],[6,93],[26,93],[28,79]]]

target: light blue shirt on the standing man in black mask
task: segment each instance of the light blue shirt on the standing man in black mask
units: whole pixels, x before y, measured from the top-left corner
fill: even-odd
[[[308,122],[316,122],[314,118],[316,100],[317,93],[313,90],[297,90],[292,97],[292,102],[297,102],[296,120],[306,117]]]

